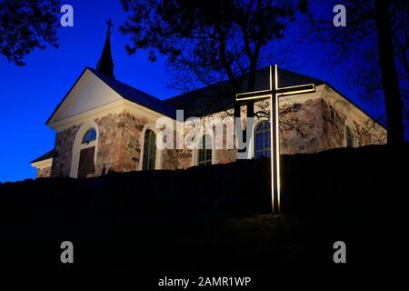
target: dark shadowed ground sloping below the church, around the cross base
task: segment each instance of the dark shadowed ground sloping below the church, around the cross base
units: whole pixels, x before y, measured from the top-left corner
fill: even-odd
[[[253,276],[265,284],[281,274],[406,274],[407,149],[283,156],[276,216],[263,159],[1,184],[0,264],[12,273],[125,272],[147,286],[161,276]],[[65,240],[75,246],[73,265],[60,262]],[[346,244],[342,265],[333,261],[338,240]]]

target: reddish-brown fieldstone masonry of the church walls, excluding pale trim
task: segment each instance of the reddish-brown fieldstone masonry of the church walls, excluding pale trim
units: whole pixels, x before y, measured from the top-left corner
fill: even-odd
[[[307,99],[304,103],[287,106],[283,110],[280,117],[281,154],[316,153],[345,146],[345,116],[323,98]],[[155,120],[123,111],[96,118],[94,122],[98,125],[98,138],[93,176],[100,176],[104,167],[106,172],[138,170],[145,125],[155,125]],[[57,133],[53,166],[38,170],[38,177],[70,175],[75,135],[82,125],[83,123],[72,125]],[[354,129],[356,146],[378,143],[364,125],[355,123]],[[225,130],[223,141],[225,146]],[[214,149],[213,155],[216,164],[236,160],[234,149]],[[165,149],[156,158],[160,159],[162,169],[186,169],[195,166],[195,156],[190,149]]]

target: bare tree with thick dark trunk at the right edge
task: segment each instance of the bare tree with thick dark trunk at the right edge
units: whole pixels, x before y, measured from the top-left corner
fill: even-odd
[[[333,48],[330,61],[347,68],[349,80],[364,88],[366,100],[379,104],[383,98],[388,144],[403,144],[408,112],[408,2],[345,0],[345,27],[334,27],[333,15],[328,13],[337,3],[315,4],[324,5],[317,11],[325,14],[311,13],[308,35]]]

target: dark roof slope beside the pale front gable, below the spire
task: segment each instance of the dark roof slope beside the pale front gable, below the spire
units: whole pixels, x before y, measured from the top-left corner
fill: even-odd
[[[139,105],[144,105],[145,107],[159,112],[163,115],[175,118],[176,112],[174,106],[163,102],[153,95],[149,95],[141,90],[135,89],[130,85],[126,85],[125,83],[122,83],[112,77],[101,74],[93,68],[88,67],[88,69],[102,81],[104,81],[106,85],[109,85],[111,88],[113,88],[117,94],[123,96],[125,99],[135,102]]]

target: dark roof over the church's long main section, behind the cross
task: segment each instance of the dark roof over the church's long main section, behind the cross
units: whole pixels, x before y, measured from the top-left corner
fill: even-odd
[[[294,73],[278,68],[278,85],[281,87],[292,85],[313,84],[323,85],[325,82],[308,75]],[[244,76],[239,92],[247,91],[247,76]],[[256,72],[254,91],[266,90],[270,87],[270,67],[264,67]],[[228,81],[210,85],[195,91],[165,100],[177,109],[185,110],[185,117],[210,115],[234,106],[234,93]]]

